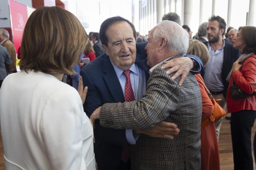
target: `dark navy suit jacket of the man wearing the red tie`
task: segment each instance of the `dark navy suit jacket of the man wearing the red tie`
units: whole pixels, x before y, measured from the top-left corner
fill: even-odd
[[[136,61],[138,67],[145,71],[146,81],[149,78],[147,54],[144,50],[148,42],[136,44]],[[202,61],[196,57],[203,68]],[[90,117],[92,112],[104,103],[124,102],[124,95],[116,77],[116,72],[108,55],[103,54],[85,65],[80,71],[84,87],[88,93],[84,103],[84,111]],[[116,170],[120,164],[124,147],[128,147],[125,129],[103,128],[99,121],[95,122],[94,153],[99,170]]]

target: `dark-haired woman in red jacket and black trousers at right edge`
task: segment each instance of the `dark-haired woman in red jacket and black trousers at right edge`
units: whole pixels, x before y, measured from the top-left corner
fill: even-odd
[[[244,92],[254,92],[255,87],[249,82],[256,81],[256,27],[240,27],[233,46],[242,52],[227,78],[227,109],[231,113],[234,170],[253,170],[251,132],[256,118],[256,96],[233,99],[231,89],[235,82]]]

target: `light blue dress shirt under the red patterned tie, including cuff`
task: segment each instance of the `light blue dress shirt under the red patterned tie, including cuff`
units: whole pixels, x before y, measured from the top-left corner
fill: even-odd
[[[116,76],[120,82],[120,85],[122,87],[123,94],[124,94],[124,87],[126,82],[126,77],[123,74],[124,70],[118,68],[114,63],[112,63],[112,65],[114,67]],[[132,64],[129,70],[131,70],[130,80],[131,80],[132,90],[134,93],[134,98],[136,101],[139,101],[142,98],[143,94],[146,92],[147,82],[146,82],[145,72],[143,69],[140,69],[135,63]],[[135,144],[136,140],[139,137],[138,134],[135,134],[133,136],[132,129],[126,129],[125,135],[126,135],[127,142],[129,144]]]

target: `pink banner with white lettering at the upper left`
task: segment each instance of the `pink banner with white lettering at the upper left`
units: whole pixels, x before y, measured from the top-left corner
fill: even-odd
[[[22,34],[28,20],[27,6],[10,0],[10,14],[12,20],[13,43],[18,51],[21,45]]]

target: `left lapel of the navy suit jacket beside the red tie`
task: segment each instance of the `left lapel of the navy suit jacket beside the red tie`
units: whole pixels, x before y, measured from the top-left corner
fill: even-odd
[[[116,102],[124,102],[124,94],[122,87],[118,78],[116,77],[116,72],[110,62],[109,57],[106,55],[103,64],[103,72],[106,73],[103,78],[108,85],[109,91],[116,100]]]

